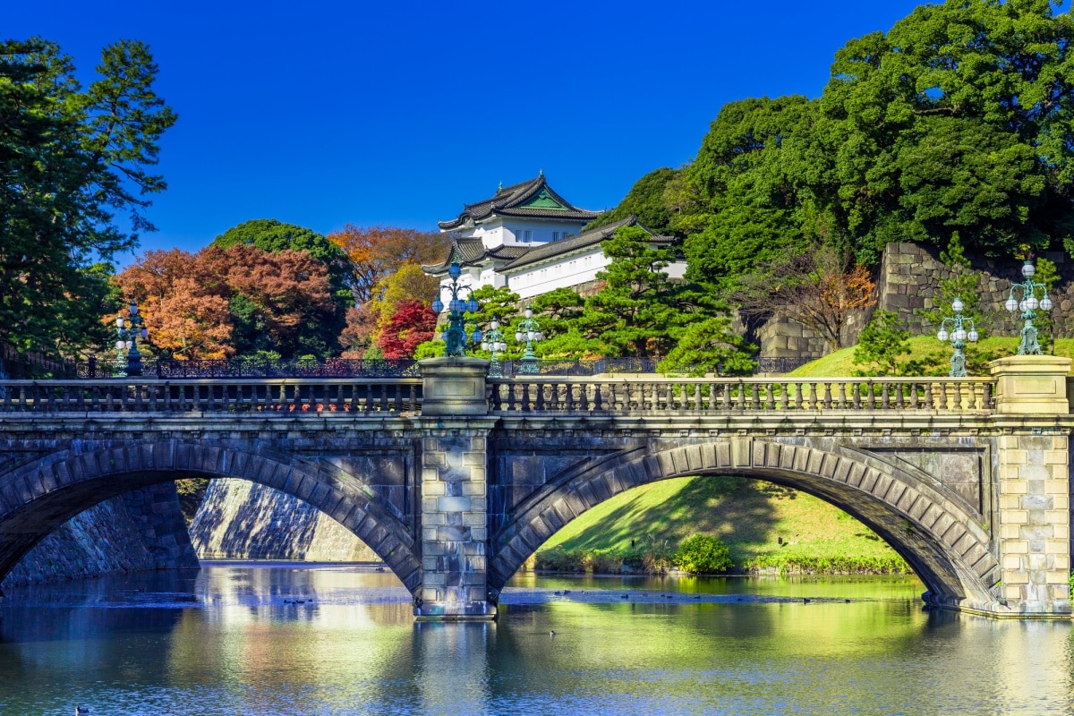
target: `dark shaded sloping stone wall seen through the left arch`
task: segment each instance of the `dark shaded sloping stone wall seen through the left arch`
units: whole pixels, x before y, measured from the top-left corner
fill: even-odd
[[[0,588],[198,567],[175,483],[101,502],[46,537],[15,566]]]

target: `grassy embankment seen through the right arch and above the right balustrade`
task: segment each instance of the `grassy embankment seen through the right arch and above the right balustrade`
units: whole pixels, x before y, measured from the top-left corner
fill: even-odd
[[[971,375],[1017,350],[1017,338],[988,338],[970,350]],[[950,348],[923,336],[910,341],[916,375],[946,375]],[[1074,339],[1056,341],[1074,356]],[[854,348],[813,361],[790,377],[853,376]],[[730,549],[736,569],[814,573],[898,573],[909,566],[868,527],[823,500],[790,488],[731,477],[666,480],[637,487],[590,510],[554,535],[536,567],[558,571],[657,571],[679,542],[713,535]]]

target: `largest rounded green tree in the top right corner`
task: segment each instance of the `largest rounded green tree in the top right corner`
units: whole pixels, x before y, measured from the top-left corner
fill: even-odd
[[[955,231],[993,255],[1070,243],[1074,24],[1050,5],[923,5],[837,53],[818,186],[859,255]]]

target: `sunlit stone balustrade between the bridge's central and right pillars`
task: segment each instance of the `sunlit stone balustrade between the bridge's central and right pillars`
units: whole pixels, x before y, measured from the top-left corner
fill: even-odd
[[[987,378],[489,379],[495,413],[712,413],[787,410],[987,412]]]

